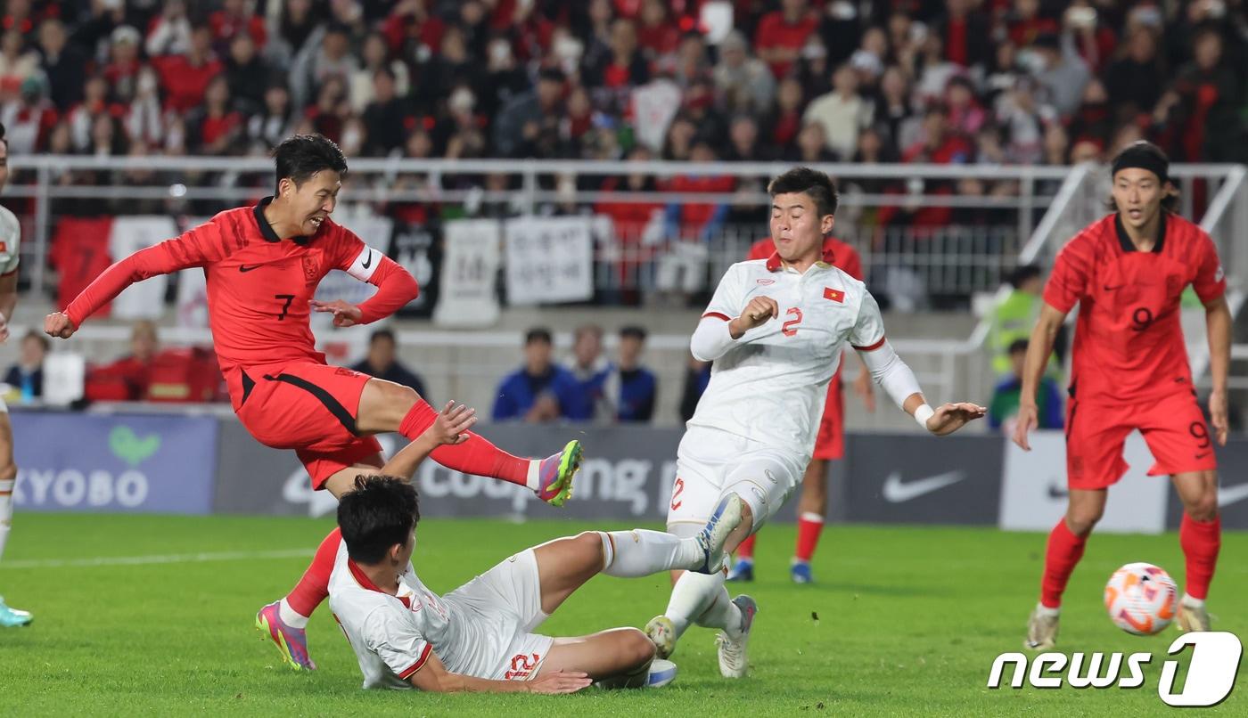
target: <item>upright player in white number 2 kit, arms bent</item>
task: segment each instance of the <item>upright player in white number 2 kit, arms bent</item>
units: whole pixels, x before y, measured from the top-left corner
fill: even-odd
[[[776,253],[728,269],[690,342],[694,357],[714,366],[680,441],[668,511],[668,531],[693,536],[740,504],[741,521],[726,552],[775,515],[801,482],[846,343],[927,431],[951,434],[985,414],[975,404],[929,406],[885,339],[880,308],[866,287],[822,262],[836,212],[832,181],[797,167],[776,177],[768,192]],[[668,610],[645,631],[665,658],[690,623],[721,629],[720,673],[739,678],[758,606],[749,596],[730,600],[724,577],[724,571],[674,571]]]

